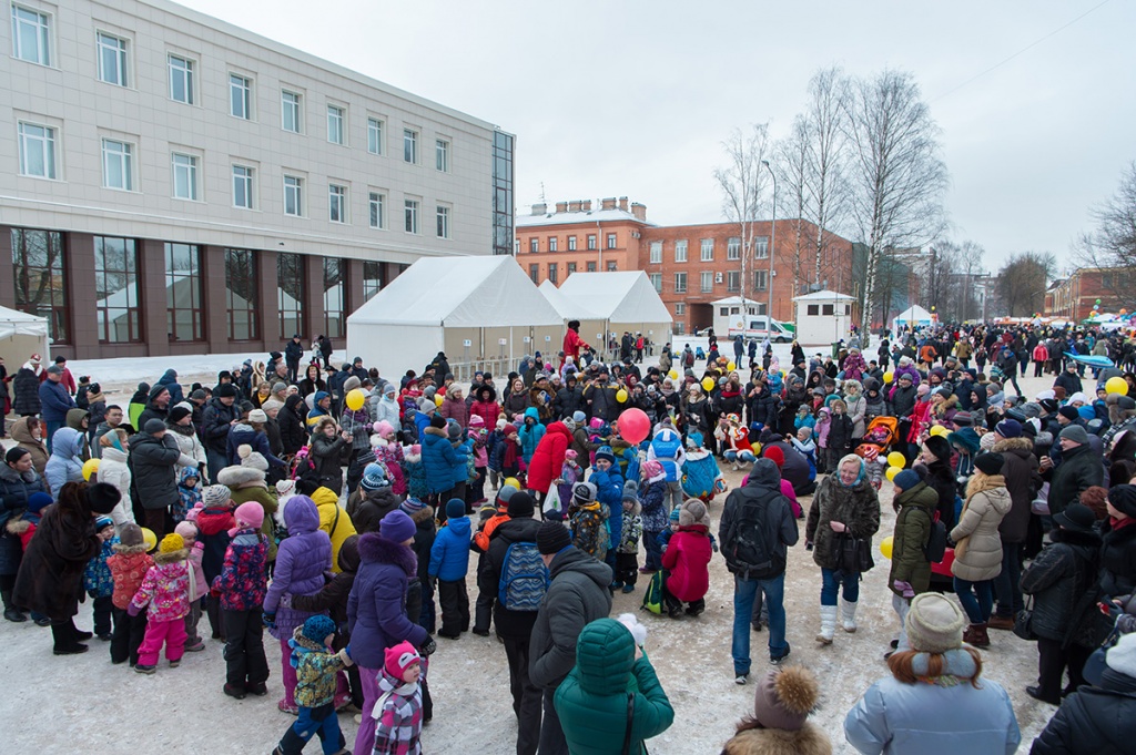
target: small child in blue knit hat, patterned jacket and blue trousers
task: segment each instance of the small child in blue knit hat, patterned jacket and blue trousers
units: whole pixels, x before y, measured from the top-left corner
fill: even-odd
[[[295,669],[295,703],[300,714],[273,755],[300,755],[317,735],[325,753],[346,753],[334,699],[336,673],[351,665],[351,656],[346,648],[333,651],[334,639],[335,622],[323,614],[309,616],[293,628],[287,641],[289,665]]]

